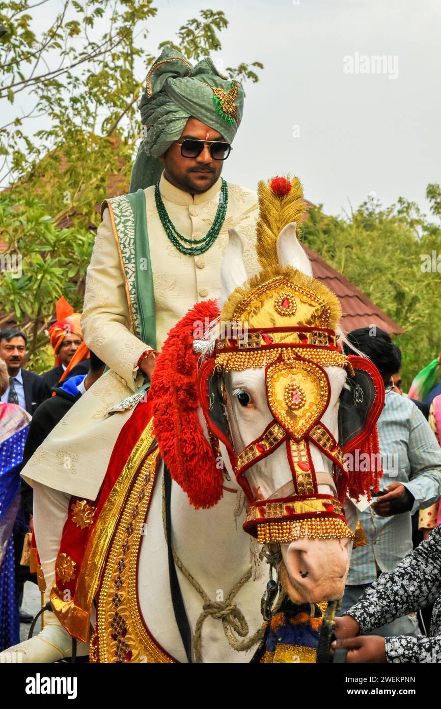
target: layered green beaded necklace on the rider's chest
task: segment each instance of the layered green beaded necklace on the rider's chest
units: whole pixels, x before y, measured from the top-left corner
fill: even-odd
[[[156,184],[154,189],[154,199],[156,202],[156,209],[158,210],[159,218],[161,224],[164,227],[165,233],[171,240],[173,246],[176,246],[181,254],[187,256],[199,256],[205,253],[210,246],[214,244],[219,232],[222,229],[222,225],[225,220],[225,215],[227,214],[228,206],[228,185],[224,179],[222,179],[221,193],[219,196],[219,205],[217,206],[216,216],[214,217],[213,223],[210,229],[207,231],[202,239],[186,239],[185,236],[180,234],[176,229],[175,225],[168,216],[164,202],[161,199],[161,193],[159,191],[159,183]],[[184,243],[182,243],[184,242]],[[190,244],[190,246],[185,246],[185,244]]]

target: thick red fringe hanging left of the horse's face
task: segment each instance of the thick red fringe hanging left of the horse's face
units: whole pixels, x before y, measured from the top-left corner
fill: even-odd
[[[222,469],[197,418],[197,360],[193,333],[219,317],[216,301],[197,303],[168,333],[151,379],[149,403],[161,457],[196,508],[222,497]]]

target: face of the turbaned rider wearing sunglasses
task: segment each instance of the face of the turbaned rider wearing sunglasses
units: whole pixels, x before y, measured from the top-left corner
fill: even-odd
[[[224,141],[217,130],[198,121],[197,118],[188,119],[177,143],[182,143],[183,140],[190,138]],[[222,172],[222,160],[213,160],[209,145],[204,145],[204,149],[197,157],[182,157],[181,146],[177,143],[173,143],[160,158],[165,165],[166,179],[190,194],[206,192],[219,179]]]

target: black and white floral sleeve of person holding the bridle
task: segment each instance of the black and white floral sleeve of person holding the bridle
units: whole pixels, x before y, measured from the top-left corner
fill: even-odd
[[[429,603],[434,603],[430,637],[386,637],[388,662],[441,662],[441,525],[391,574],[381,574],[348,615],[358,621],[363,633]]]

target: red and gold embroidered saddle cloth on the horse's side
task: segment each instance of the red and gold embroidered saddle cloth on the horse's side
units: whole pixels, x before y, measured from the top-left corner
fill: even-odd
[[[173,662],[137,608],[137,554],[160,462],[148,404],[127,423],[96,500],[71,498],[50,601],[69,634],[88,642],[98,597],[91,661]]]

